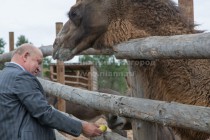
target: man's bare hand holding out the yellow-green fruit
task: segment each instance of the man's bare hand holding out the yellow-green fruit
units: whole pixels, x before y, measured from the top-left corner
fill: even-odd
[[[93,123],[82,122],[82,133],[86,137],[100,136],[103,132]]]

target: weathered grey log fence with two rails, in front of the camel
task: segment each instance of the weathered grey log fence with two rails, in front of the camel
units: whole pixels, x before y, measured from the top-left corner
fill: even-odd
[[[179,0],[183,5],[193,0]],[[192,16],[191,12],[188,14]],[[193,20],[193,18],[190,18]],[[81,54],[114,54],[123,59],[210,59],[210,33],[148,37],[135,39],[114,46],[112,50],[89,49]],[[52,54],[52,46],[40,47],[44,56]],[[11,59],[11,52],[0,55],[0,62]],[[141,98],[132,98],[81,90],[59,83],[39,79],[45,92],[65,100],[83,104],[105,112],[117,113],[137,120],[156,122],[167,126],[178,126],[210,134],[210,108],[168,103]],[[148,127],[149,128],[149,127]],[[137,133],[137,131],[135,132]],[[136,135],[134,133],[134,136]],[[138,139],[138,135],[134,139]],[[151,140],[143,136],[142,140]]]

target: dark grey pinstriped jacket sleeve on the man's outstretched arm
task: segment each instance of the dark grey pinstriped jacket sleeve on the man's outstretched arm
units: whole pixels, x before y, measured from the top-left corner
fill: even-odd
[[[81,122],[53,109],[41,89],[36,77],[29,73],[21,73],[15,78],[14,93],[32,117],[42,125],[79,136],[82,132]]]

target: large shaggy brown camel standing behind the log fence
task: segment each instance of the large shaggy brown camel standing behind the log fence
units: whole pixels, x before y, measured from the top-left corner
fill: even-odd
[[[148,36],[202,33],[172,0],[77,0],[69,20],[53,44],[53,58],[69,60],[88,49],[114,49],[124,41]],[[145,60],[129,60],[129,62]],[[210,62],[207,59],[150,60],[153,65],[134,66],[135,81],[143,84],[145,98],[210,106]],[[130,63],[132,64],[132,63]],[[136,88],[136,89],[135,89]],[[173,128],[182,140],[205,140],[209,134]]]

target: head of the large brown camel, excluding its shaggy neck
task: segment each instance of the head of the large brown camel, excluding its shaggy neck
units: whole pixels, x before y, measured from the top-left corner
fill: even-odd
[[[94,45],[108,26],[108,0],[77,0],[53,44],[53,58],[69,60]]]

